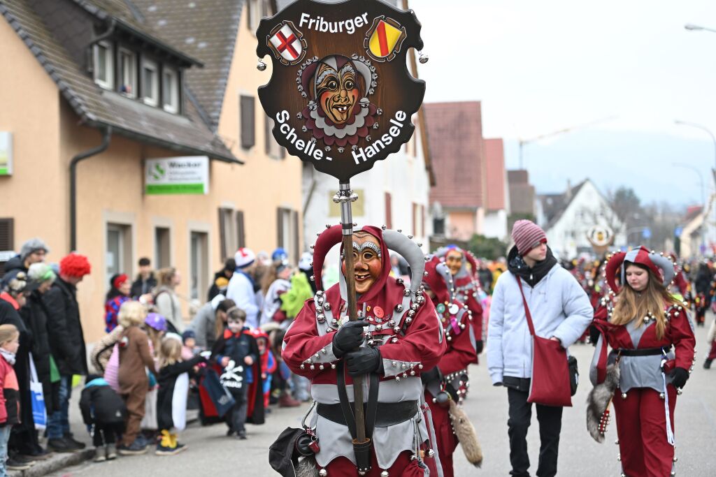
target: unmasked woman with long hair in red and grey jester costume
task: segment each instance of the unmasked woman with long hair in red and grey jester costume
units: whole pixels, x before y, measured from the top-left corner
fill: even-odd
[[[615,282],[619,270],[621,290]],[[606,266],[609,287],[618,292],[614,306],[608,303],[594,314],[601,337],[590,378],[595,385],[604,382],[607,366],[617,363],[613,403],[622,476],[675,472],[674,408],[696,342],[685,308],[667,291],[673,277],[673,263],[644,247],[616,253]]]

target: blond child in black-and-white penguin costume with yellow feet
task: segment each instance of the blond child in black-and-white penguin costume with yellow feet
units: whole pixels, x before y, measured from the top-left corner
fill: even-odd
[[[161,441],[158,456],[173,456],[186,446],[177,441],[177,433],[186,427],[186,400],[189,393],[189,373],[205,359],[195,355],[182,360],[182,342],[174,335],[166,336],[159,350],[159,393],[157,395],[157,423]]]

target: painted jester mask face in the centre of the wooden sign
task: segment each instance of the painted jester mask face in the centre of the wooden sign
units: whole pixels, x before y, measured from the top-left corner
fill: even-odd
[[[336,71],[331,65],[321,63],[316,69],[316,97],[324,114],[334,124],[347,122],[362,97],[353,64],[344,64]]]

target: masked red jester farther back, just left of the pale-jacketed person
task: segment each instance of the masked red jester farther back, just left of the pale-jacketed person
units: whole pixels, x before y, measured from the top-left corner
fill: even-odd
[[[450,274],[453,275],[455,285],[455,299],[468,305],[473,314],[473,328],[475,330],[475,343],[478,355],[483,352],[483,307],[480,305],[480,281],[477,278],[478,265],[470,252],[465,252],[456,245],[448,245],[437,251],[436,255],[442,257]],[[465,262],[470,262],[472,270],[468,270]],[[478,358],[475,357],[475,363]]]

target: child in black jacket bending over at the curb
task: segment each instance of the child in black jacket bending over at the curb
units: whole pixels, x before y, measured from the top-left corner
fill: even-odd
[[[95,462],[117,458],[117,441],[125,431],[127,408],[124,401],[101,376],[87,375],[79,409],[82,421],[92,433]]]

